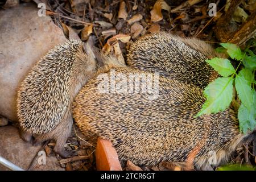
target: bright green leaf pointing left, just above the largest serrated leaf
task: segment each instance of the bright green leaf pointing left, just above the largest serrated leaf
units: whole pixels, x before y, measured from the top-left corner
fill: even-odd
[[[214,57],[213,59],[206,60],[215,71],[217,71],[221,76],[228,77],[235,72],[233,65],[228,59]]]

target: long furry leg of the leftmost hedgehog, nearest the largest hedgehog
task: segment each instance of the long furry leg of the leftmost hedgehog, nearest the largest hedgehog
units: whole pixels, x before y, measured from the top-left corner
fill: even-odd
[[[59,131],[55,132],[54,138],[56,140],[56,145],[53,150],[64,158],[68,158],[74,153],[73,151],[64,150],[64,145],[67,142],[68,137],[71,135],[72,126],[73,118],[71,112],[69,112],[68,119],[64,117],[60,126],[57,127]]]

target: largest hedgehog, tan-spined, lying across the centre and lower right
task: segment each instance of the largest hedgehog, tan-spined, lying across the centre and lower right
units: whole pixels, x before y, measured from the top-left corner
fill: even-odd
[[[148,79],[148,92],[142,92]],[[133,92],[126,90],[127,80]],[[158,87],[151,86],[153,82]],[[158,97],[149,97],[152,93]],[[190,163],[195,169],[210,170],[252,140],[255,130],[240,133],[237,113],[230,108],[196,118],[204,102],[203,90],[193,84],[111,64],[82,87],[72,113],[84,139],[92,144],[98,137],[110,140],[122,161],[147,166]]]

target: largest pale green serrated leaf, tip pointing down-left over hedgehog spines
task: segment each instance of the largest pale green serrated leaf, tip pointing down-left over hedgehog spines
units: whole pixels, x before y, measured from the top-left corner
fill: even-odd
[[[204,89],[204,96],[207,101],[202,106],[196,117],[203,114],[217,113],[225,110],[233,97],[233,78],[217,78]]]

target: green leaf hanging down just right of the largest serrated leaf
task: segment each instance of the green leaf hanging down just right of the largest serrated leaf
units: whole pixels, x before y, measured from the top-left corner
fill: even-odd
[[[249,108],[253,103],[253,92],[251,82],[253,82],[253,73],[250,69],[243,68],[236,76],[236,90],[242,103]]]

